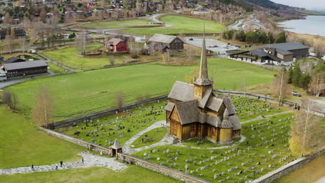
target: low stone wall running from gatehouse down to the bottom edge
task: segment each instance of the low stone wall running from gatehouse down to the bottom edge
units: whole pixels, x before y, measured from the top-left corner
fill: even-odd
[[[159,164],[155,164],[152,162],[147,162],[143,159],[138,157],[133,157],[130,155],[124,155],[122,153],[117,153],[117,159],[122,160],[123,162],[127,162],[128,164],[135,164],[137,166],[142,166],[143,168],[147,168],[151,171],[155,171],[166,175],[168,177],[172,177],[176,180],[180,180],[182,182],[189,182],[189,183],[203,183],[208,182],[206,180],[202,180],[198,177],[193,177],[192,175],[188,175],[179,171],[175,171],[171,168],[167,168],[165,166],[160,166]]]

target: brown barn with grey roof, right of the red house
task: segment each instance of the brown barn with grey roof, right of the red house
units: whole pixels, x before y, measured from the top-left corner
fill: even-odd
[[[148,40],[149,44],[155,46],[167,46],[170,50],[184,49],[184,42],[177,36],[155,34]]]

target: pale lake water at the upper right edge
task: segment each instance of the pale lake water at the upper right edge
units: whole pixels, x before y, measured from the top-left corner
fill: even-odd
[[[293,33],[325,36],[325,16],[307,16],[281,22],[281,27]]]

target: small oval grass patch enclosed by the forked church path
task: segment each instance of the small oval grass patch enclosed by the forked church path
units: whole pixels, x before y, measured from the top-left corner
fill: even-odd
[[[165,118],[165,115],[163,115],[163,117]],[[161,141],[161,139],[163,139],[166,133],[167,133],[167,129],[163,127],[152,129],[149,132],[142,134],[138,139],[133,141],[131,147],[140,148],[143,146],[149,146],[153,143],[157,143],[158,141]],[[143,139],[143,143],[142,143],[142,139]]]

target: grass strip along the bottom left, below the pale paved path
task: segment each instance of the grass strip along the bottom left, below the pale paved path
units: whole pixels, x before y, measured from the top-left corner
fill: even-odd
[[[128,165],[128,168],[114,172],[109,168],[91,167],[91,168],[73,168],[60,171],[23,173],[12,175],[0,175],[0,182],[51,182],[51,183],[106,183],[106,182],[179,182],[171,177],[150,171],[140,166]]]

